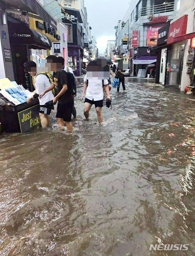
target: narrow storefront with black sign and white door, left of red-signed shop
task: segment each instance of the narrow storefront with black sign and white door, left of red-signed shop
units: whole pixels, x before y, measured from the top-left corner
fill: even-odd
[[[167,22],[164,27],[158,30],[158,42],[157,42],[157,62],[156,62],[156,83],[165,84],[165,75],[167,72],[167,38],[168,38],[168,30],[170,23]],[[150,52],[152,52],[151,49]]]

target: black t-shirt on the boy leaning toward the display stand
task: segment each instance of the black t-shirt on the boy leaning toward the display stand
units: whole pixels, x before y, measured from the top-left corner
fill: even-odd
[[[57,83],[58,83],[58,93],[62,90],[63,88],[63,84],[68,84],[67,78],[68,74],[66,71],[62,70],[62,71],[57,71],[55,73],[55,78],[57,79]],[[64,94],[62,94],[62,96],[60,96],[60,98],[58,99],[58,103],[63,104],[69,101],[72,101],[74,99],[74,96],[69,93],[68,91],[66,91]]]

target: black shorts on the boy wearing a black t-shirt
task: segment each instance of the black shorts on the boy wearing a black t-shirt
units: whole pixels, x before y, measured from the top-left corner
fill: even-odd
[[[65,122],[70,122],[73,112],[74,100],[66,103],[58,103],[56,118],[62,118]]]

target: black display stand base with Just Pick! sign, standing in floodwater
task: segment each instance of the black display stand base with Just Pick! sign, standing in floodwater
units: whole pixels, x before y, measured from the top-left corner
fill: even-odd
[[[0,106],[0,123],[6,133],[28,132],[40,125],[39,100],[33,99],[17,106]]]

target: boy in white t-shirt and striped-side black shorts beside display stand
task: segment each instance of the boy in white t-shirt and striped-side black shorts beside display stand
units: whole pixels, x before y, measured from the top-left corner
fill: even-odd
[[[31,98],[27,98],[27,103],[33,98],[38,98],[39,94],[44,92],[48,87],[50,87],[51,82],[47,75],[37,74],[37,64],[34,61],[27,61],[25,66],[25,72],[28,72],[31,76],[35,76],[35,91],[34,95]],[[39,117],[41,120],[41,126],[47,127],[49,124],[49,115],[51,113],[51,108],[45,106],[45,103],[51,101],[54,98],[52,91],[47,92],[39,98],[40,110]]]

